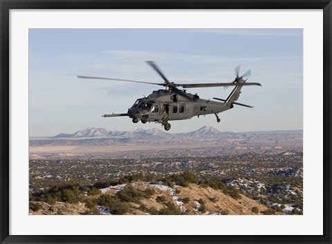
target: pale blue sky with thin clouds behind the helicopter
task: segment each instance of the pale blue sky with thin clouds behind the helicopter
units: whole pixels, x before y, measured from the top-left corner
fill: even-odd
[[[162,87],[77,75],[163,83],[145,61],[154,61],[176,83],[232,82],[251,69],[234,106],[215,115],[171,121],[171,133],[213,126],[219,131],[303,128],[302,29],[30,29],[29,135],[52,136],[88,127],[111,131],[163,129],[133,124],[127,113],[136,99]],[[227,98],[232,88],[188,88],[203,99]]]

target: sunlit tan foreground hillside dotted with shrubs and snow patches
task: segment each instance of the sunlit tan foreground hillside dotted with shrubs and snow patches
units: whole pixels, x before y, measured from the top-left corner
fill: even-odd
[[[146,191],[151,189],[154,192],[149,198],[137,198],[128,203],[128,209],[124,214],[237,214],[250,215],[261,214],[267,209],[266,206],[257,203],[255,200],[240,195],[241,198],[234,199],[224,194],[220,190],[211,187],[201,187],[196,184],[189,184],[187,187],[175,185],[168,187],[162,182],[132,182],[115,187],[107,187],[101,190],[101,195],[86,196],[86,199],[93,200],[100,196],[116,196],[125,187],[132,186],[136,191]],[[88,200],[88,202],[89,202]],[[32,202],[39,204],[40,209],[29,214],[53,215],[53,214],[87,214],[89,205],[86,203],[61,203],[53,205],[44,202]],[[202,207],[204,206],[204,207]],[[175,208],[174,208],[175,207]],[[252,208],[257,207],[258,213],[252,212]],[[93,207],[92,207],[93,208]],[[204,208],[204,209],[203,209]],[[100,214],[111,214],[112,209],[98,205]],[[172,211],[172,212],[171,212]],[[95,214],[99,214],[99,213]]]

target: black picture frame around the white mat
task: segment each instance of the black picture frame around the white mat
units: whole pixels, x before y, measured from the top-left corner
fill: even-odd
[[[0,0],[1,243],[331,243],[331,0]],[[12,236],[9,234],[9,11],[11,9],[322,9],[324,29],[324,227],[322,236]],[[151,233],[152,234],[152,233]]]

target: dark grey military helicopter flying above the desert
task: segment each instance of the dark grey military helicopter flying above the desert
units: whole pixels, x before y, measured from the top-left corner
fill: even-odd
[[[102,117],[119,117],[128,116],[132,118],[133,123],[141,121],[143,124],[146,122],[156,122],[162,124],[166,131],[171,129],[170,120],[188,120],[194,116],[214,114],[216,115],[216,122],[220,122],[218,116],[219,113],[232,109],[234,104],[239,106],[246,106],[252,108],[252,106],[235,102],[239,99],[242,86],[256,85],[261,86],[259,83],[248,82],[244,77],[249,77],[251,71],[249,70],[241,77],[239,76],[240,66],[237,66],[235,74],[237,75],[233,82],[230,83],[206,83],[206,84],[176,84],[169,82],[167,77],[160,71],[160,68],[155,62],[147,61],[147,64],[151,66],[164,80],[164,83],[151,83],[151,82],[140,82],[129,79],[113,79],[104,77],[90,77],[77,75],[78,78],[83,79],[107,79],[122,82],[136,82],[142,84],[154,84],[158,86],[165,86],[165,89],[153,91],[147,97],[138,98],[136,102],[128,109],[127,113],[112,113],[105,114]],[[210,100],[204,100],[199,95],[187,93],[185,89],[181,90],[178,87],[183,88],[198,88],[198,87],[214,87],[214,86],[235,86],[230,95],[224,100],[221,98],[213,97],[215,100],[221,102],[215,102]]]

